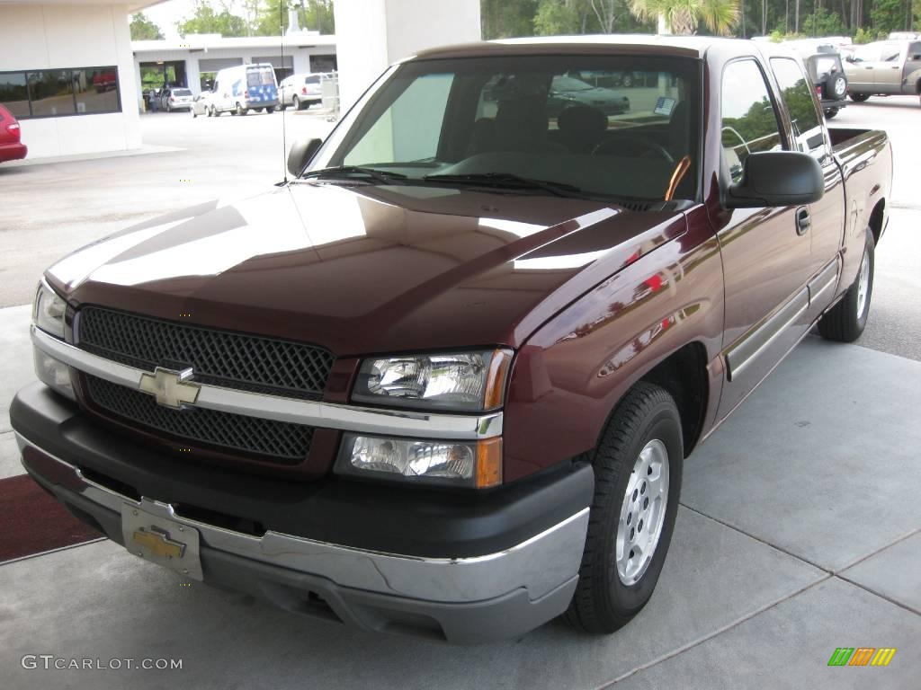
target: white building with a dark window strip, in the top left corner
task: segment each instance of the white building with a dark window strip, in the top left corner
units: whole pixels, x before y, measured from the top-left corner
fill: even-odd
[[[0,0],[0,103],[29,158],[141,146],[128,17],[149,0]]]

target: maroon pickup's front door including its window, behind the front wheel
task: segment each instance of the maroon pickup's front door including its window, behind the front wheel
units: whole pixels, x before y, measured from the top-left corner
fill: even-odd
[[[748,155],[781,150],[785,137],[772,90],[754,59],[729,63],[721,90],[721,185],[738,182]],[[713,216],[723,257],[727,380],[719,416],[748,395],[799,340],[807,323],[810,234],[805,207],[722,211]]]

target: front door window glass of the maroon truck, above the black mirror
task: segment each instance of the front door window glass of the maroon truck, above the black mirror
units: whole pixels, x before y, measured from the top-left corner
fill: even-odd
[[[742,177],[742,166],[750,154],[783,148],[770,92],[753,60],[727,65],[721,113],[723,158],[733,182]]]

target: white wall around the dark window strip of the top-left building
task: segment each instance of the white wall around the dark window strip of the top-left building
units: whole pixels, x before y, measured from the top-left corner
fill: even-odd
[[[141,145],[127,7],[0,5],[0,71],[117,65],[122,112],[22,120],[29,158]]]

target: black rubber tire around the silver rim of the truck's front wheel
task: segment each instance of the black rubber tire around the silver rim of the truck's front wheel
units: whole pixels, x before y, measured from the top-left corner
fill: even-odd
[[[638,581],[627,585],[616,565],[618,523],[635,462],[654,440],[664,444],[668,457],[664,521],[645,571],[640,573]],[[614,409],[594,452],[595,497],[589,515],[589,533],[576,592],[565,613],[572,626],[590,633],[612,633],[629,623],[649,601],[675,526],[683,457],[682,424],[675,401],[658,385],[645,382],[635,385]],[[631,500],[636,499],[634,492]],[[636,519],[634,523],[642,531],[642,523]]]

